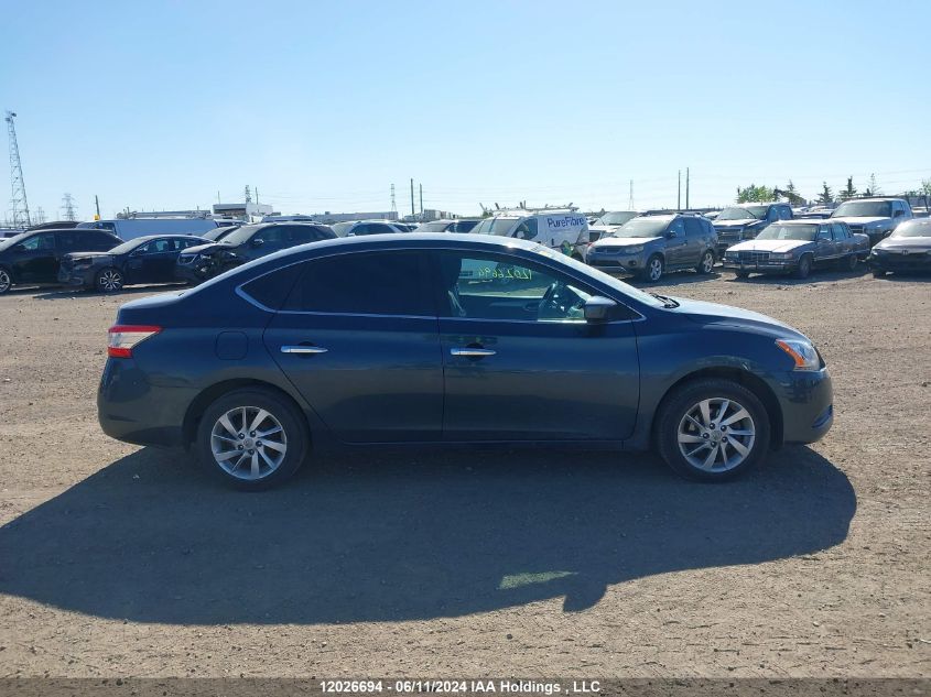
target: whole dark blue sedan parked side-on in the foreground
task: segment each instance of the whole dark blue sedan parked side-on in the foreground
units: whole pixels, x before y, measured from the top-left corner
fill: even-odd
[[[188,446],[245,489],[312,447],[412,443],[654,448],[723,480],[833,421],[827,369],[795,329],[469,235],[278,252],[123,305],[108,353],[108,435]]]

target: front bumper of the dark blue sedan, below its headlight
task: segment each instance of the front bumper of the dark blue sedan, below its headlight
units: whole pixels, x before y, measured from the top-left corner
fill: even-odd
[[[834,388],[826,368],[776,375],[783,443],[814,443],[834,423]]]

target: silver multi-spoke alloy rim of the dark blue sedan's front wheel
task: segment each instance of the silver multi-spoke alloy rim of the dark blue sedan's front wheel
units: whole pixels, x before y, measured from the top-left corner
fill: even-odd
[[[679,422],[679,451],[695,469],[725,472],[754,449],[756,425],[735,400],[711,397],[694,404]]]

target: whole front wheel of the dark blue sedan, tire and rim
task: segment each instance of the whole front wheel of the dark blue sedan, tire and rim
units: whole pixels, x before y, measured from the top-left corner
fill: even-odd
[[[723,481],[766,456],[769,415],[759,399],[724,379],[685,384],[663,404],[657,421],[660,456],[679,475]]]

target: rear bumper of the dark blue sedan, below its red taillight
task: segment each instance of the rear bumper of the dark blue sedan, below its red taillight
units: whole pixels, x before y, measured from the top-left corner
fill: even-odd
[[[97,390],[97,418],[111,438],[136,445],[183,445],[194,389],[152,385],[134,361],[108,358]]]

